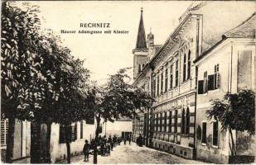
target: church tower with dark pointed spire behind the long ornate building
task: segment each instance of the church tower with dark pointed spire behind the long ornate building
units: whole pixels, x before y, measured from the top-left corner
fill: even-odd
[[[138,78],[142,68],[147,64],[147,42],[143,23],[143,10],[141,9],[141,17],[138,26],[138,35],[136,48],[133,50],[133,78]]]

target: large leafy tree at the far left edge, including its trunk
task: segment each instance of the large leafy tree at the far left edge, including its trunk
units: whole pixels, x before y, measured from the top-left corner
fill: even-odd
[[[14,2],[2,2],[1,16],[1,109],[2,118],[9,120],[7,133],[7,163],[12,163],[15,119],[29,120],[31,108],[37,106],[31,74],[35,74],[36,55],[30,51],[33,35],[40,29],[37,7],[15,7]]]

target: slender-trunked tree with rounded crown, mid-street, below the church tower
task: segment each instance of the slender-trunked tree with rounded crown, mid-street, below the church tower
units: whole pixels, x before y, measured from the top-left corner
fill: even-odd
[[[97,122],[95,130],[94,163],[97,163],[97,143],[100,120],[113,122],[122,116],[138,117],[138,110],[152,104],[152,97],[138,87],[128,83],[128,68],[122,68],[111,75],[103,87],[94,86],[89,93],[89,109],[94,111]]]

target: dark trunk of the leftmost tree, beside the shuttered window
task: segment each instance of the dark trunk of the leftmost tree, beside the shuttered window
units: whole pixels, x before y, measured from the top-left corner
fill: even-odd
[[[12,163],[15,118],[10,117],[10,118],[8,118],[8,120],[9,120],[9,128],[8,128],[8,133],[7,133],[6,162],[7,163]]]

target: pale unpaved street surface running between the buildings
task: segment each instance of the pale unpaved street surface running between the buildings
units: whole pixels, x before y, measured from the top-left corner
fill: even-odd
[[[71,158],[71,163],[93,163],[93,155],[89,155],[89,162],[84,162],[84,157],[78,156]],[[188,160],[180,158],[169,153],[157,151],[152,148],[138,147],[136,144],[123,145],[123,143],[111,152],[110,156],[98,156],[99,164],[118,164],[118,163],[143,163],[143,164],[174,164],[174,163],[193,163],[201,164],[202,162],[196,160]]]

